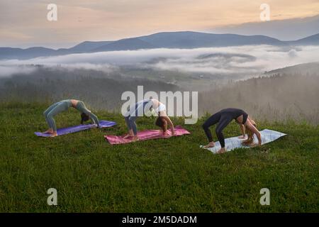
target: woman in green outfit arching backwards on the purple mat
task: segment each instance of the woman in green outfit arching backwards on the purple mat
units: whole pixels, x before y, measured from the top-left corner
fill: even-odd
[[[67,99],[57,102],[53,104],[47,110],[43,112],[43,116],[45,116],[45,120],[49,125],[49,129],[45,131],[45,133],[50,133],[53,136],[57,136],[57,126],[55,125],[55,119],[53,118],[55,115],[60,114],[62,111],[67,111],[70,107],[77,109],[81,113],[81,123],[84,121],[89,121],[91,118],[92,121],[99,127],[99,119],[96,115],[92,114],[91,111],[86,109],[83,101],[75,100],[75,99]]]

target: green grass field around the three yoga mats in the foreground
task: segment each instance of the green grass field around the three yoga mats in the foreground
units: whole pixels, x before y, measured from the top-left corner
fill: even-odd
[[[319,211],[318,126],[258,122],[259,130],[288,135],[213,155],[198,147],[206,143],[203,119],[184,126],[191,135],[110,145],[103,135],[125,133],[125,122],[100,111],[101,120],[118,126],[38,138],[33,132],[47,129],[46,107],[0,104],[1,212]],[[58,127],[77,125],[79,114],[55,120]],[[139,130],[155,128],[154,121],[139,119]],[[225,129],[225,137],[239,133],[235,123]],[[47,205],[49,188],[57,189],[57,206]],[[259,204],[262,188],[270,190],[270,206]]]

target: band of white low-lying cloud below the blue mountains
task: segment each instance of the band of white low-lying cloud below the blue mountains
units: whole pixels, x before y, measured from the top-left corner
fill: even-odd
[[[114,71],[130,66],[152,70],[172,70],[209,74],[262,74],[281,67],[315,62],[319,59],[319,46],[277,47],[250,45],[225,48],[152,49],[112,52],[94,52],[52,57],[37,57],[30,60],[1,60],[0,76],[19,72],[30,73],[21,65],[61,66],[69,69]],[[21,71],[22,72],[22,71]]]

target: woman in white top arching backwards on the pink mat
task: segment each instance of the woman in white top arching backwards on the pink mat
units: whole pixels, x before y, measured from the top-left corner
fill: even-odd
[[[136,118],[138,118],[138,116],[144,116],[147,111],[151,111],[152,109],[154,109],[158,114],[155,125],[162,128],[163,133],[165,133],[167,131],[168,124],[172,131],[172,135],[175,135],[174,125],[166,114],[166,106],[157,99],[144,99],[142,101],[138,101],[135,106],[130,108],[125,114],[125,122],[128,126],[128,135],[125,135],[124,138],[133,137],[133,141],[138,140],[138,127],[135,123]]]

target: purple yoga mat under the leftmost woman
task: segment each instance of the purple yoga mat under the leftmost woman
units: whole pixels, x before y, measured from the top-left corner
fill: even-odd
[[[115,126],[116,123],[113,121],[100,121],[100,128],[108,128]],[[96,128],[94,124],[87,124],[87,125],[79,125],[79,126],[71,126],[68,128],[58,128],[57,129],[57,135],[66,135],[69,133],[77,133],[79,131],[87,130],[90,128]],[[35,135],[41,136],[41,137],[50,137],[50,133],[39,133],[35,132]]]

